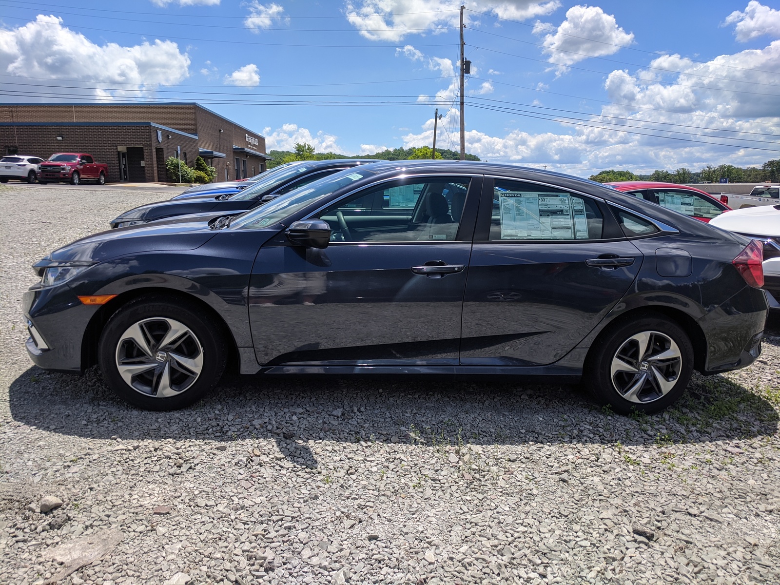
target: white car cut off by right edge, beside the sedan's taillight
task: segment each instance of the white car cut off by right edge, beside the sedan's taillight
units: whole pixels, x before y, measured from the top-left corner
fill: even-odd
[[[764,242],[764,290],[774,297],[770,307],[780,309],[780,204],[727,211],[710,225]]]

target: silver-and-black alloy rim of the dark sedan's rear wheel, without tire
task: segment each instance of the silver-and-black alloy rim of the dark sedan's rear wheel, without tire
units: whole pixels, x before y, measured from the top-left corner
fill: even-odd
[[[683,354],[674,339],[661,332],[631,335],[612,357],[610,378],[629,402],[654,402],[675,387]]]

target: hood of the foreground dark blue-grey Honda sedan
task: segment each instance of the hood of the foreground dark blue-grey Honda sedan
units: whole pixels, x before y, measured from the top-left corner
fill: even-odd
[[[194,250],[213,238],[218,230],[208,222],[165,222],[138,228],[119,228],[77,239],[55,250],[44,261],[102,262],[128,254],[164,250]],[[39,263],[40,264],[40,263]]]

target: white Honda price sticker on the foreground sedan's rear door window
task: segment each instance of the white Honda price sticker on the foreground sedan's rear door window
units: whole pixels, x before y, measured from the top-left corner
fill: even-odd
[[[587,239],[585,205],[569,193],[498,193],[501,239]]]

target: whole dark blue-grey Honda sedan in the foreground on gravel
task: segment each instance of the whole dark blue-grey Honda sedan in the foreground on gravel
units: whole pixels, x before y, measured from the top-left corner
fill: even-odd
[[[25,293],[27,349],[51,370],[97,362],[151,410],[196,401],[233,359],[243,374],[583,380],[650,413],[693,370],[759,356],[761,261],[755,240],[587,180],[380,163],[237,218],[56,250]]]

